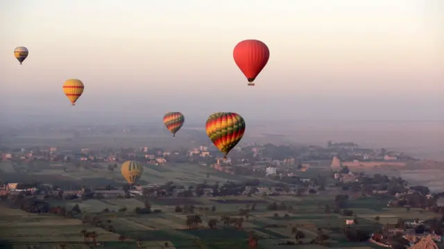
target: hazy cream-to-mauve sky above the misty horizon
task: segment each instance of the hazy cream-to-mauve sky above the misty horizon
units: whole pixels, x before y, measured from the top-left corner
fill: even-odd
[[[3,0],[0,14],[2,122],[444,119],[443,0]],[[232,59],[243,39],[271,50],[256,86]],[[16,46],[30,50],[22,66]],[[68,78],[85,84],[74,109]]]

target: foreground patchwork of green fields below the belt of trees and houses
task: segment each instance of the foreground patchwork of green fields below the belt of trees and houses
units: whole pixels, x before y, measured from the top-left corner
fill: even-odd
[[[283,197],[283,196],[282,196]],[[87,214],[94,214],[96,219],[108,222],[115,228],[109,232],[103,228],[83,223],[80,216],[67,219],[53,214],[27,214],[22,210],[2,207],[0,210],[0,226],[7,228],[2,232],[0,239],[8,241],[13,248],[20,248],[23,241],[26,243],[39,244],[41,248],[58,248],[60,244],[66,243],[69,248],[90,248],[85,243],[81,234],[82,230],[96,232],[99,236],[97,243],[106,246],[118,246],[118,248],[224,248],[234,246],[233,243],[246,248],[248,232],[253,231],[259,239],[261,248],[276,248],[282,241],[294,241],[291,228],[296,226],[298,230],[305,233],[302,241],[309,242],[318,234],[317,228],[322,228],[330,235],[330,246],[332,247],[355,247],[355,243],[346,241],[345,236],[338,232],[343,228],[345,219],[350,217],[340,214],[325,214],[322,205],[316,205],[316,197],[312,196],[285,196],[282,203],[293,205],[293,210],[272,211],[266,206],[276,201],[271,197],[250,197],[248,201],[242,202],[239,197],[227,197],[225,199],[214,198],[190,198],[189,203],[195,203],[197,211],[203,219],[200,228],[187,230],[187,214],[174,212],[176,203],[168,203],[167,199],[153,200],[153,208],[160,208],[162,212],[153,214],[135,214],[133,210],[143,207],[143,201],[137,199],[106,199],[87,201],[67,201],[67,207],[78,204],[80,209]],[[318,202],[327,202],[325,196],[319,196]],[[332,198],[330,199],[332,201]],[[396,208],[380,208],[379,211],[371,207],[361,208],[361,203],[366,200],[350,201],[350,205],[356,205],[353,211],[357,215],[359,226],[375,228],[379,225],[375,216],[379,216],[379,223],[393,223],[402,216],[404,219],[415,219],[421,217],[433,217],[431,213],[421,213],[420,210]],[[244,221],[244,230],[235,229],[232,225],[218,223],[215,229],[207,227],[207,221],[218,219],[221,215],[239,217],[239,209],[246,208],[250,203],[255,204],[255,210],[250,212],[248,220]],[[173,205],[171,205],[173,204]],[[200,207],[214,206],[215,210]],[[110,212],[102,212],[108,208]],[[120,208],[126,211],[119,212]],[[328,221],[328,222],[327,222]],[[328,224],[327,224],[328,223]],[[2,230],[3,231],[3,230]],[[119,237],[124,236],[124,241]],[[227,241],[224,238],[230,238]],[[140,242],[137,242],[140,240]],[[231,244],[230,244],[231,243]],[[168,246],[165,246],[168,245]],[[204,246],[204,247],[201,247]],[[360,243],[361,247],[372,247],[370,243]],[[309,248],[320,248],[321,246],[310,245]]]

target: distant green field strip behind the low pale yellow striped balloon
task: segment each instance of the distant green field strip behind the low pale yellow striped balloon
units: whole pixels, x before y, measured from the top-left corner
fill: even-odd
[[[26,163],[19,164],[17,167],[28,169]],[[69,188],[69,185],[74,187],[78,185],[99,187],[107,184],[118,185],[124,182],[120,170],[118,169],[114,170],[114,172],[109,172],[108,164],[106,163],[100,163],[99,167],[95,169],[84,169],[83,167],[76,169],[72,164],[65,163],[51,169],[40,169],[37,172],[31,172],[24,176],[23,174],[16,172],[15,167],[12,166],[10,161],[6,161],[0,163],[0,170],[4,173],[0,174],[1,181],[8,181],[8,179],[18,181],[19,179],[27,179],[26,177],[29,177],[36,181],[54,182],[57,181],[57,178],[63,178],[63,181],[60,184],[58,183],[58,185],[63,185],[67,188]],[[163,184],[168,181],[173,181],[176,184],[188,186],[191,184],[203,183],[204,181],[209,184],[214,184],[225,183],[227,180],[246,181],[247,179],[249,178],[225,174],[210,167],[191,163],[181,163],[175,165],[144,164],[144,174],[140,178],[140,181],[141,183],[153,184]],[[266,183],[267,181],[264,181],[265,185]]]

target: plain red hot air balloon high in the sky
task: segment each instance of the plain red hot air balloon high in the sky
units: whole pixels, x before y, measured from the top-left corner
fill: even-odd
[[[233,50],[234,62],[247,77],[248,86],[254,86],[253,81],[264,69],[270,58],[270,50],[264,42],[248,39],[239,42]]]

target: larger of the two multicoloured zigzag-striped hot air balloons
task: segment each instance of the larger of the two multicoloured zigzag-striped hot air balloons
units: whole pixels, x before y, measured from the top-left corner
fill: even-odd
[[[245,120],[237,113],[214,113],[208,117],[205,129],[210,140],[226,159],[228,152],[244,136]]]

